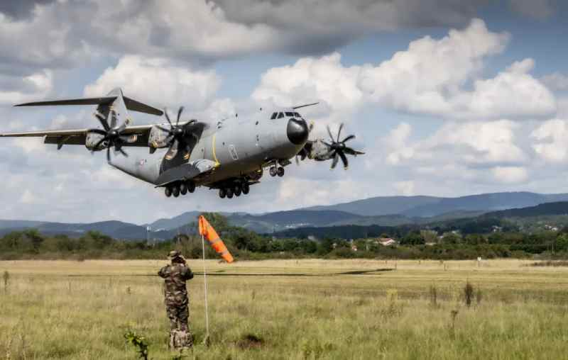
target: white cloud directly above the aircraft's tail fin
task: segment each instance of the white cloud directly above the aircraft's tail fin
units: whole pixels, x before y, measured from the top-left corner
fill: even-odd
[[[204,109],[214,98],[221,79],[212,70],[192,71],[163,58],[138,55],[121,57],[116,67],[84,89],[85,96],[102,96],[121,87],[126,96],[149,104],[175,106],[187,104]]]

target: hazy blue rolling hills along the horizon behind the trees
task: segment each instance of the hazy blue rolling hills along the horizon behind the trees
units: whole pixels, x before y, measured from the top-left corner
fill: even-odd
[[[332,206],[317,206],[265,214],[224,213],[229,223],[261,233],[282,232],[299,227],[425,225],[450,220],[486,217],[562,215],[568,213],[568,194],[529,192],[486,193],[459,198],[434,196],[391,196],[368,198]],[[532,214],[532,215],[523,215]],[[536,215],[535,215],[536,214]],[[27,220],[0,220],[0,235],[12,230],[34,227],[46,234],[80,237],[95,230],[111,237],[133,240],[169,239],[178,229],[196,220],[199,212],[188,211],[173,218],[162,218],[150,224],[136,225],[121,221],[97,223],[50,223]],[[151,227],[147,234],[146,226]]]

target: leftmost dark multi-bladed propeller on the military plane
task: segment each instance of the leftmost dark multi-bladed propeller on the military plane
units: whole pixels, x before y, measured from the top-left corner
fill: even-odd
[[[111,161],[111,147],[114,147],[115,152],[120,152],[125,157],[128,157],[129,154],[126,154],[126,152],[122,150],[122,146],[124,144],[131,144],[133,142],[136,142],[136,139],[138,138],[136,135],[124,134],[124,130],[126,130],[126,126],[129,125],[130,120],[126,118],[126,120],[124,120],[124,123],[118,126],[116,111],[114,111],[114,109],[112,108],[109,110],[109,115],[107,116],[107,118],[104,118],[102,113],[99,113],[98,111],[94,113],[94,117],[97,118],[97,120],[99,120],[99,123],[101,123],[104,130],[102,129],[87,130],[87,133],[102,135],[102,139],[99,140],[99,142],[97,142],[97,144],[94,145],[94,147],[91,150],[91,153],[94,153],[94,151],[97,150],[99,146],[101,146],[104,142],[107,142],[107,162]],[[109,124],[109,118],[110,118],[110,124]]]

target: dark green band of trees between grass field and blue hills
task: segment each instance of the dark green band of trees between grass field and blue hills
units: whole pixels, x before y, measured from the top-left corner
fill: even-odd
[[[218,213],[204,213],[236,259],[270,258],[368,258],[368,259],[476,259],[477,257],[568,258],[568,229],[520,232],[501,218],[452,220],[418,225],[302,227],[261,235],[229,225]],[[116,240],[100,232],[86,232],[74,239],[43,235],[37,230],[10,232],[0,238],[0,259],[160,259],[170,249],[187,258],[202,257],[201,238],[195,224],[187,235],[168,241]],[[383,246],[378,238],[398,244]],[[216,259],[207,247],[207,258]]]

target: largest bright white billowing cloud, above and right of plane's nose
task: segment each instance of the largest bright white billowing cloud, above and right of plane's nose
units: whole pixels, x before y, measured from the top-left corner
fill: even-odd
[[[507,33],[492,33],[484,21],[474,19],[442,39],[415,40],[408,50],[376,66],[344,67],[338,53],[303,58],[263,74],[253,99],[280,106],[320,100],[327,110],[322,115],[349,113],[366,103],[454,120],[532,119],[554,113],[555,97],[528,74],[532,59],[479,79],[486,57],[502,52],[508,40]]]

